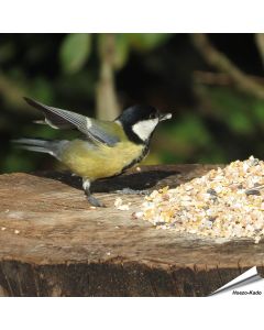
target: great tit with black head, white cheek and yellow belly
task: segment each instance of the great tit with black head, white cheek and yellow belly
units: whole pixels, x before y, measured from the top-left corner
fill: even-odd
[[[102,121],[24,99],[43,112],[42,123],[53,129],[77,129],[82,135],[72,141],[19,139],[14,142],[22,148],[51,154],[80,176],[87,199],[96,207],[103,205],[91,195],[91,183],[117,176],[140,163],[148,153],[158,122],[172,118],[170,113],[162,114],[154,107],[133,106],[116,120]]]

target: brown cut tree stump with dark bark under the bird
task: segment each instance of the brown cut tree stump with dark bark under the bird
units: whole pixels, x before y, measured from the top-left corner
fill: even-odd
[[[98,182],[90,208],[80,179],[61,173],[0,176],[0,296],[207,296],[252,266],[263,271],[264,244],[217,243],[157,230],[134,220],[143,197],[114,190],[153,190],[201,176],[212,165],[142,166]]]

